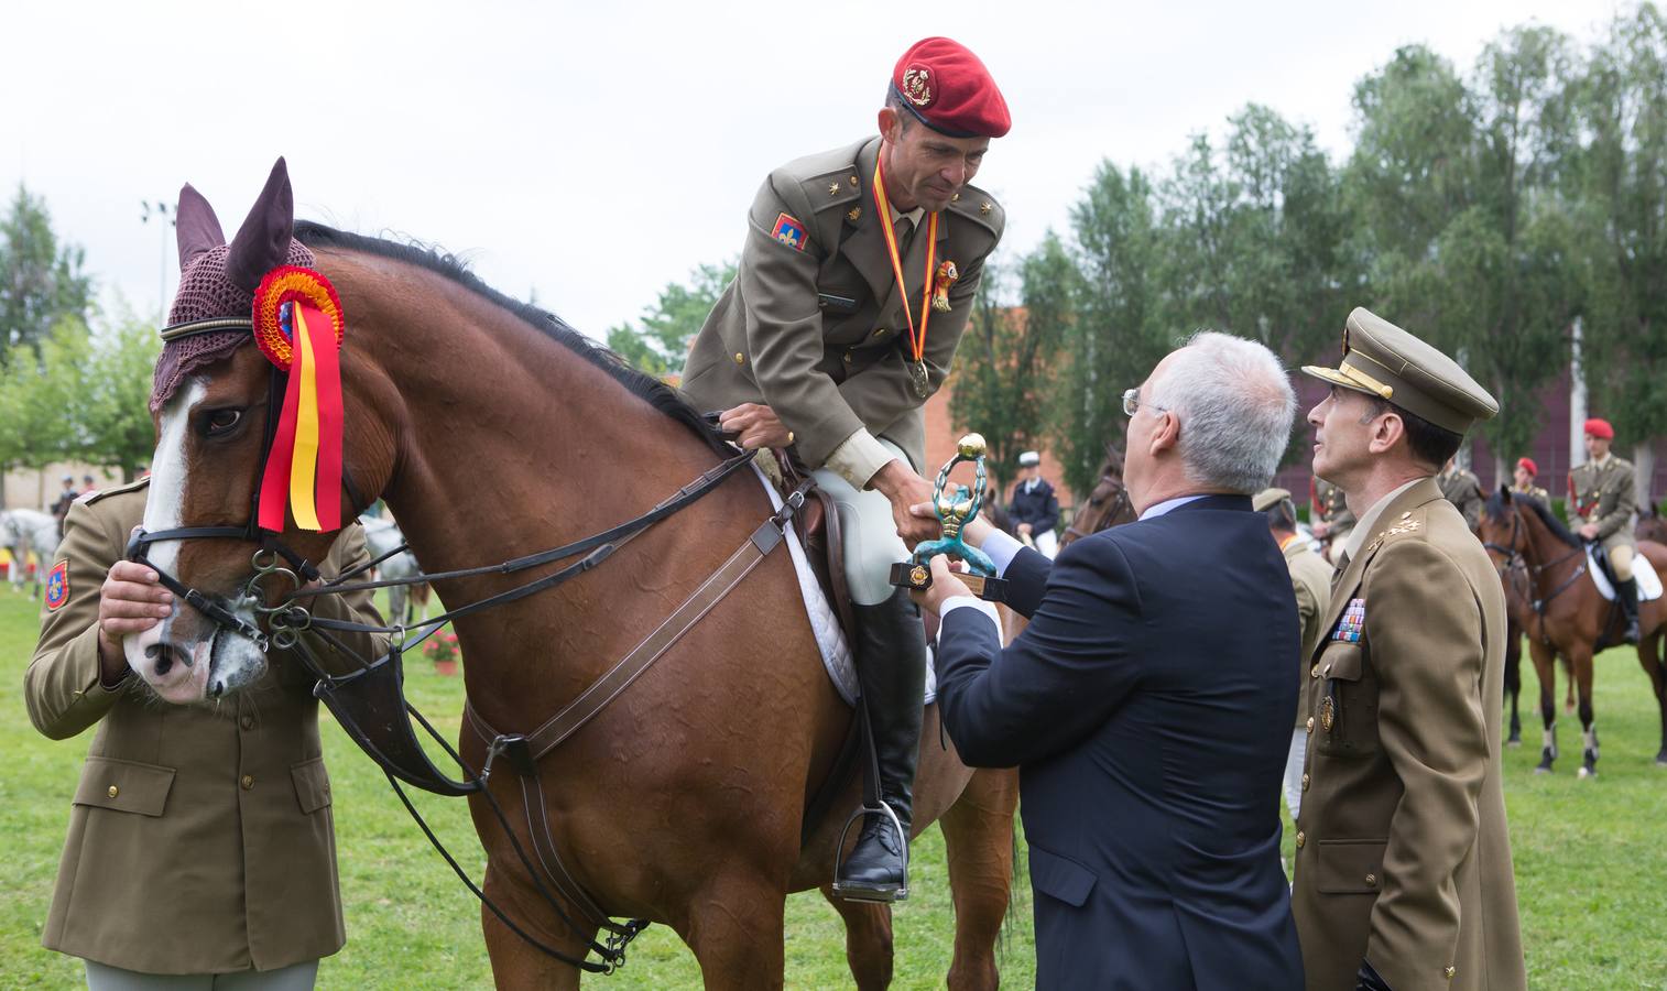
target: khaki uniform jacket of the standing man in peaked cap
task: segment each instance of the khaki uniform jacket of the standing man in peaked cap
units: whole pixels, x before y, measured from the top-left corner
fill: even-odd
[[[1505,597],[1434,479],[1400,492],[1325,611],[1292,911],[1310,991],[1527,984],[1500,789]]]

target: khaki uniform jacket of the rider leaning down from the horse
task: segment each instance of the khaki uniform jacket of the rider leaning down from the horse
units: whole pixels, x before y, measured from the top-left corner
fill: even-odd
[[[822,467],[859,429],[897,444],[919,472],[925,460],[925,399],[909,379],[907,294],[922,319],[927,219],[899,245],[900,292],[874,205],[880,138],[777,169],[747,214],[735,280],[695,337],[683,392],[708,410],[767,404],[795,435],[798,457]],[[925,364],[929,392],[949,375],[967,327],[984,259],[1002,237],[995,200],[965,187],[939,215],[937,265],[960,277],[949,312],[932,312]]]

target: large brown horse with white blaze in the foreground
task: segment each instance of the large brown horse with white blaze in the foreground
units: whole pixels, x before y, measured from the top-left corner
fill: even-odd
[[[208,250],[223,240],[218,222],[200,197],[187,215],[187,199],[182,265],[208,252],[223,259],[228,285],[248,292],[287,257],[293,222],[282,162],[228,252]],[[360,506],[383,497],[435,572],[607,531],[723,460],[700,415],[665,385],[553,315],[498,295],[455,260],[318,225],[295,225],[293,239],[310,247],[347,315],[343,487]],[[248,317],[247,304],[222,309],[228,312],[207,315]],[[147,531],[247,524],[270,385],[272,365],[253,347],[235,347],[182,382],[158,414]],[[470,707],[500,731],[532,732],[648,637],[772,516],[752,470],[738,474],[575,581],[455,619]],[[483,490],[495,512],[460,512]],[[323,559],[333,537],[293,522],[280,534],[310,561]],[[167,541],[150,556],[158,571],[240,619],[255,616],[258,601],[240,596],[255,544],[188,534]],[[475,574],[437,581],[435,591],[455,609],[518,584],[515,576]],[[272,602],[280,589],[262,592]],[[128,656],[175,699],[218,697],[250,684],[265,664],[237,629],[182,606],[148,651]],[[158,674],[160,657],[183,661],[162,667],[200,672],[170,681]],[[535,849],[522,796],[528,781],[540,782],[543,807],[527,812],[548,821],[560,869],[582,898],[605,916],[675,929],[708,988],[780,988],[787,893],[825,889],[832,879],[844,814],[823,816],[805,838],[802,828],[850,724],[852,709],[818,659],[793,564],[777,552],[578,732],[525,774],[500,762],[487,789],[510,809],[513,841]],[[467,721],[460,737],[465,762],[483,767],[487,744]],[[940,739],[929,707],[915,831],[940,821],[950,849],[957,938],[949,984],[994,988],[1017,781],[1012,772],[974,774]],[[855,782],[834,807],[857,807]],[[533,938],[583,958],[600,921],[578,898],[557,896],[577,921],[563,924],[487,796],[470,794],[470,811],[487,853],[485,894]],[[885,986],[889,906],[837,908],[857,984]],[[482,924],[498,986],[578,984],[578,969],[485,909]]]

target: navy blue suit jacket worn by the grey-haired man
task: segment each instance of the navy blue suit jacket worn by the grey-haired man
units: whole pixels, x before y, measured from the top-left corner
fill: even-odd
[[[1210,495],[1005,577],[1030,626],[1004,651],[949,612],[937,697],[964,761],[1020,767],[1037,984],[1300,988],[1279,859],[1300,646],[1265,517]]]

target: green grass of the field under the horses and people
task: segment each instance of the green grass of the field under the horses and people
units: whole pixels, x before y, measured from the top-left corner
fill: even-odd
[[[0,988],[72,988],[80,963],[40,948],[70,794],[88,737],[52,742],[28,724],[23,669],[33,652],[35,606],[0,589],[0,836],[8,878],[0,891]],[[408,691],[442,732],[455,737],[460,679],[408,664]],[[1532,676],[1525,676],[1530,682]],[[1562,692],[1559,689],[1559,704]],[[1557,774],[1534,776],[1537,719],[1522,749],[1505,754],[1505,799],[1517,864],[1517,894],[1529,984],[1557,989],[1667,986],[1667,769],[1649,684],[1630,651],[1597,662],[1597,712],[1604,759],[1597,781],[1577,781],[1579,722],[1564,717]],[[323,746],[335,794],[347,948],[323,961],[322,988],[490,988],[478,908],[428,849],[380,771],[323,717]],[[462,802],[418,796],[418,807],[478,879],[482,858]],[[1290,859],[1287,829],[1285,858]],[[895,913],[897,988],[940,988],[954,941],[944,841],[930,829],[915,844],[914,896]],[[1034,983],[1029,886],[1002,954],[1009,988]],[[817,893],[787,906],[787,986],[849,986],[844,929]],[[607,988],[698,986],[688,951],[663,926],[632,948]]]

